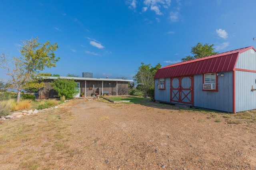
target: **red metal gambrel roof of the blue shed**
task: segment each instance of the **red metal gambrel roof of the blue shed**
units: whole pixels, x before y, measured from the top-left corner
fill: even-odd
[[[239,54],[249,49],[254,49],[254,47],[245,47],[242,49],[211,55],[200,59],[171,64],[159,68],[154,78],[166,78],[231,71],[234,70],[236,66]],[[254,51],[256,50],[254,49]]]

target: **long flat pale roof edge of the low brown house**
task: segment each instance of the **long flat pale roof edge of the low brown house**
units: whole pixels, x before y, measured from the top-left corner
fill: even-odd
[[[87,77],[68,77],[68,76],[47,76],[45,79],[74,79],[74,80],[89,80],[89,81],[118,81],[118,82],[133,82],[133,80],[118,79],[118,78],[87,78]]]

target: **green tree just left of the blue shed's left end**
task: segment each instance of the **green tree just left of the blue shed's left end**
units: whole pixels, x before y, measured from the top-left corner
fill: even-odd
[[[154,88],[154,75],[156,71],[161,68],[161,64],[156,64],[155,67],[151,64],[141,63],[141,66],[136,71],[136,75],[133,76],[139,90],[144,92],[144,96],[148,97],[148,91]]]

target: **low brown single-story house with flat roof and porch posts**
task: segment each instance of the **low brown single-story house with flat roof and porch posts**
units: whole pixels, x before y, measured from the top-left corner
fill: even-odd
[[[50,82],[54,79],[74,79],[77,83],[75,97],[80,97],[81,93],[84,93],[85,97],[92,96],[93,93],[98,95],[107,96],[118,96],[128,94],[128,82],[133,82],[133,80],[124,79],[112,79],[112,78],[88,78],[88,77],[66,77],[66,76],[48,76],[45,77],[43,82],[45,87],[40,88],[38,92],[38,98],[55,98],[57,93],[53,90]]]

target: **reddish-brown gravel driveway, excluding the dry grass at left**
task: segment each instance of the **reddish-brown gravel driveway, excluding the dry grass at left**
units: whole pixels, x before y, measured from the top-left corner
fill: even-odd
[[[77,153],[57,169],[256,169],[255,123],[152,102],[79,102],[71,111]]]

